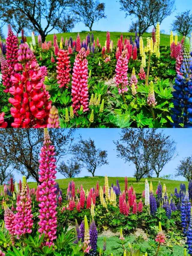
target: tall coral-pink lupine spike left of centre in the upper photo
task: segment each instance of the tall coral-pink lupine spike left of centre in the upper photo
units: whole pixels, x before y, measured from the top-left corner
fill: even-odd
[[[85,48],[81,48],[76,56],[72,74],[72,107],[77,115],[77,110],[83,107],[83,112],[88,111],[88,61]]]

